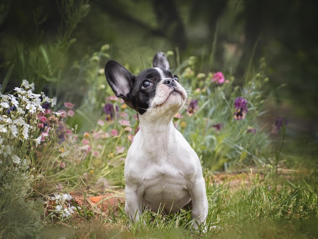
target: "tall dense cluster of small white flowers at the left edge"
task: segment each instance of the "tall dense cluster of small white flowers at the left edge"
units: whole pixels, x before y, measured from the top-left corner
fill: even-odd
[[[21,87],[15,87],[13,95],[0,94],[0,156],[6,165],[26,163],[25,153],[17,150],[19,145],[37,147],[42,136],[38,128],[39,114],[45,112],[45,103],[54,106],[56,98],[33,93],[34,83],[23,80]]]

